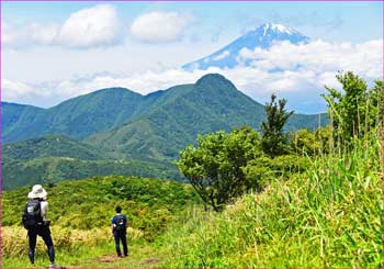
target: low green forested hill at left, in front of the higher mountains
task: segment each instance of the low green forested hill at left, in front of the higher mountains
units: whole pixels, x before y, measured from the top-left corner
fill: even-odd
[[[3,189],[36,182],[54,183],[65,179],[93,176],[140,176],[183,180],[173,164],[158,160],[118,159],[63,135],[47,135],[3,146]]]

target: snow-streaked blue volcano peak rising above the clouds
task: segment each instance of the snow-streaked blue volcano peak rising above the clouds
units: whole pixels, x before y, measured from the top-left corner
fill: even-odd
[[[238,65],[237,59],[241,49],[248,48],[253,51],[256,47],[267,49],[271,47],[272,44],[283,41],[289,41],[292,44],[300,44],[308,43],[309,37],[282,24],[266,23],[256,30],[246,33],[216,53],[189,63],[182,66],[182,68],[185,70],[205,70],[210,67],[234,68]]]

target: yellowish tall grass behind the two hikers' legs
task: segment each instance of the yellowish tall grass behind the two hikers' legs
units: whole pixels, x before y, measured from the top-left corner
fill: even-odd
[[[2,227],[2,267],[29,267],[27,235],[20,226]],[[129,243],[138,243],[143,238],[143,232],[127,228]],[[108,250],[114,253],[111,228],[93,228],[89,231],[52,227],[52,236],[58,255],[59,262],[83,262],[87,259],[98,258]],[[46,246],[38,237],[36,245],[36,260],[47,264]],[[81,264],[80,264],[81,265]]]

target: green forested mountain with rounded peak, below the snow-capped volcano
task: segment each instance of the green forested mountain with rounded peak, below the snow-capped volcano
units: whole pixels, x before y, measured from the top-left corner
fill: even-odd
[[[146,113],[126,124],[91,135],[86,141],[129,157],[174,159],[199,134],[249,125],[259,128],[264,107],[236,89],[221,75],[195,85],[169,89]],[[323,123],[326,116],[323,116]],[[287,130],[316,128],[318,115],[294,114]]]

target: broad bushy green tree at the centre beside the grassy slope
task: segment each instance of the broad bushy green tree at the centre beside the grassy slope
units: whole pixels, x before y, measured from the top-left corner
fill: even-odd
[[[244,172],[259,157],[259,134],[244,126],[227,134],[223,131],[197,137],[197,147],[188,146],[177,162],[202,200],[215,211],[252,187]]]

